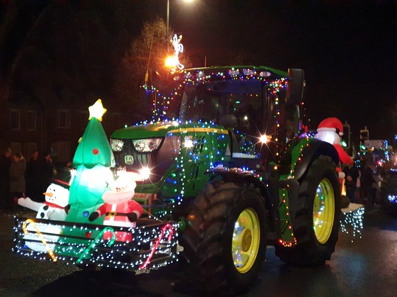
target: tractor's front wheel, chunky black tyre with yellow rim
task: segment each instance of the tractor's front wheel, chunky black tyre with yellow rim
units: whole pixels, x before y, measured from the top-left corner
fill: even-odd
[[[231,296],[254,284],[266,251],[264,201],[253,184],[213,181],[199,193],[182,237],[199,290]]]

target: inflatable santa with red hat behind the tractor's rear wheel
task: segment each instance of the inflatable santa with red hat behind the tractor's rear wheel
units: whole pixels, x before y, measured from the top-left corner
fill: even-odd
[[[331,118],[326,118],[319,124],[317,128],[316,138],[333,145],[333,147],[338,152],[340,163],[346,165],[353,164],[353,158],[350,157],[340,145],[340,136],[342,135],[343,135],[342,122],[337,118],[331,117]],[[340,188],[341,191],[343,192],[342,189],[344,185],[344,173],[342,172],[340,163],[338,164],[338,166],[336,166],[336,172],[338,172]]]

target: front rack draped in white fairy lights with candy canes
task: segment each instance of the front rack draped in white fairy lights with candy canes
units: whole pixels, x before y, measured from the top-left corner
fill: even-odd
[[[111,227],[112,231],[127,231],[132,233],[132,242],[118,242],[115,237],[104,240],[102,235],[110,227],[91,224],[72,224],[69,222],[60,222],[45,219],[36,219],[40,224],[57,226],[62,230],[60,234],[50,234],[37,232],[40,235],[37,240],[30,239],[41,245],[54,245],[54,251],[37,251],[26,246],[25,232],[23,226],[27,223],[33,223],[32,220],[14,217],[15,219],[15,247],[13,251],[24,255],[31,256],[40,260],[49,259],[52,261],[62,260],[67,264],[79,264],[88,267],[95,265],[98,267],[122,268],[126,270],[156,269],[165,266],[174,261],[178,261],[178,234],[176,230],[178,223],[158,223],[136,228]],[[28,222],[27,222],[28,221]],[[73,243],[65,242],[66,236],[62,233],[70,233],[75,229],[80,229],[87,234],[96,234],[95,238],[90,236],[81,236],[75,238]],[[48,240],[50,236],[57,235],[60,237],[56,242]],[[128,260],[127,260],[128,259]]]

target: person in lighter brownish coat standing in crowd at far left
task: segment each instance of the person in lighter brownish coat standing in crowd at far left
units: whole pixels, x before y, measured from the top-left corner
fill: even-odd
[[[17,198],[25,196],[25,172],[26,161],[22,153],[16,152],[12,156],[11,166],[9,168],[9,205],[12,208],[17,207]]]

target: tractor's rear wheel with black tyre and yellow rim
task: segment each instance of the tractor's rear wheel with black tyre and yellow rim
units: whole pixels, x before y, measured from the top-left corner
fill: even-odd
[[[329,156],[314,160],[299,186],[293,231],[294,247],[276,245],[276,255],[290,265],[320,266],[331,258],[340,225],[340,190]]]

